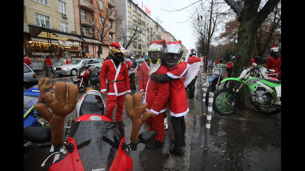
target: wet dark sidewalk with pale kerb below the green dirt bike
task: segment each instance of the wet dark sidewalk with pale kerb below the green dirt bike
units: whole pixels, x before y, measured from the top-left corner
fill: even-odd
[[[281,114],[263,115],[250,102],[232,115],[213,111],[209,148],[203,148],[206,115],[201,114],[200,78],[196,99],[188,99],[185,154],[170,155],[165,170],[281,170]]]

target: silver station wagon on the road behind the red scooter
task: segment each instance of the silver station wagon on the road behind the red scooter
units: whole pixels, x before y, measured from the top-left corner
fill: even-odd
[[[75,59],[69,62],[69,64],[54,67],[54,70],[57,74],[70,74],[75,76],[77,75],[78,70],[87,64],[91,65],[90,70],[99,69],[102,65],[101,62],[96,59]]]

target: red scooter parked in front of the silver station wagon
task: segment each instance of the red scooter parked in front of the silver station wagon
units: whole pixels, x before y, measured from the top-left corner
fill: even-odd
[[[73,82],[73,84],[78,87],[78,92],[84,92],[87,87],[97,86],[100,84],[99,75],[101,70],[97,69],[91,71],[89,67],[91,67],[91,65],[82,66],[78,72],[80,74],[77,75],[79,79]]]

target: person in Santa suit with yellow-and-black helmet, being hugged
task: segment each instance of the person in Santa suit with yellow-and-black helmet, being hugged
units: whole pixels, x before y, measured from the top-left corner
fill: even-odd
[[[168,72],[167,66],[162,65],[165,46],[166,41],[164,39],[155,40],[149,44],[148,58],[150,67],[148,76],[152,73],[166,74]],[[166,111],[167,99],[169,96],[168,89],[169,82],[161,83],[148,78],[143,103],[146,102],[148,104],[146,110],[151,112],[151,116],[146,120],[146,123],[149,125],[150,131],[157,132],[155,139],[146,146],[148,149],[161,147],[163,145],[165,135],[164,112]]]

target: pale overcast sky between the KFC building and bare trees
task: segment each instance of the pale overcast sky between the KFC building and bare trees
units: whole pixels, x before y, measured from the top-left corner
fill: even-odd
[[[190,0],[196,2],[198,0]],[[155,20],[158,17],[161,21],[157,21],[166,31],[170,32],[177,40],[181,40],[182,45],[184,45],[188,50],[190,48],[195,48],[195,41],[191,29],[191,22],[183,22],[188,20],[190,17],[190,12],[188,11],[173,11],[175,9],[181,9],[191,4],[189,1],[185,0],[135,0],[135,3],[138,3],[139,7],[142,7],[142,2],[145,6],[151,11],[151,18]],[[168,11],[163,11],[166,9]],[[143,10],[145,11],[145,9]]]

